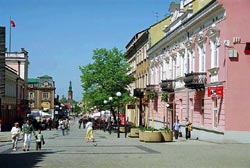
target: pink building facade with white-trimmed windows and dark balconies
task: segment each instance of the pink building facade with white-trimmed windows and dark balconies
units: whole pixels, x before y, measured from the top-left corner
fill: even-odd
[[[164,38],[147,52],[149,85],[157,93],[149,104],[151,125],[189,118],[193,138],[250,142],[249,6],[183,0],[171,11]]]

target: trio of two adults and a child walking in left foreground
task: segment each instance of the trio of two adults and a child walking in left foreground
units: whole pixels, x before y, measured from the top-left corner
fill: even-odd
[[[38,129],[36,133],[29,119],[27,119],[26,122],[22,125],[22,130],[19,127],[18,122],[14,123],[14,126],[11,129],[12,150],[17,150],[18,140],[20,136],[23,136],[23,151],[29,151],[32,134],[35,136],[36,139],[36,150],[41,150],[42,144],[45,144],[41,129]]]

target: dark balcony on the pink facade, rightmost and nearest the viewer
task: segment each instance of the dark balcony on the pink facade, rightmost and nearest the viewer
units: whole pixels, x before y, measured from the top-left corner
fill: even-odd
[[[185,87],[189,89],[202,90],[205,89],[207,83],[207,73],[205,72],[191,72],[185,74]]]

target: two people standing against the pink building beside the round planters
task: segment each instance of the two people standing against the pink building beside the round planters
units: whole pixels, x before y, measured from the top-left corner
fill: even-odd
[[[178,139],[179,136],[182,136],[182,132],[180,128],[181,128],[181,125],[179,123],[179,120],[177,120],[173,125],[175,139]],[[191,138],[191,131],[192,131],[192,123],[188,120],[188,118],[186,118],[186,122],[185,122],[186,139]]]

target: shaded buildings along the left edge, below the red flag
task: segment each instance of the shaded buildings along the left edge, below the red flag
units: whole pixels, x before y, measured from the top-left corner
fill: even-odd
[[[29,111],[27,101],[28,52],[6,52],[5,27],[0,27],[0,119],[2,130],[22,123]]]

